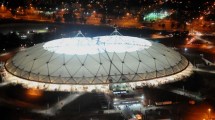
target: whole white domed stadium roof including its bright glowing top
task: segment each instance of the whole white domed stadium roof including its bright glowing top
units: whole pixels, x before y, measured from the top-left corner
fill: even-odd
[[[37,44],[17,53],[5,68],[29,81],[93,85],[147,81],[188,65],[185,57],[160,43],[112,35]]]

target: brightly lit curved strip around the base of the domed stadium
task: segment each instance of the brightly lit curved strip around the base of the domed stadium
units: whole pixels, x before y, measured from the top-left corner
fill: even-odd
[[[162,84],[171,83],[175,81],[182,80],[188,76],[190,76],[192,71],[193,65],[191,63],[188,64],[186,69],[183,71],[167,76],[162,78],[151,79],[148,81],[135,81],[135,82],[127,82],[127,83],[114,83],[112,84],[112,90],[120,90],[120,89],[129,89],[129,88],[136,88],[142,86],[152,86],[156,87]],[[71,92],[92,92],[92,91],[100,91],[100,92],[109,92],[110,91],[110,84],[97,84],[97,85],[71,85],[71,84],[53,84],[53,83],[41,83],[36,81],[29,81],[25,79],[18,78],[13,76],[9,72],[5,71],[5,76],[3,79],[6,82],[11,82],[14,84],[22,84],[26,88],[34,88],[34,89],[41,89],[47,91],[71,91]],[[117,88],[118,85],[124,85],[127,88]]]

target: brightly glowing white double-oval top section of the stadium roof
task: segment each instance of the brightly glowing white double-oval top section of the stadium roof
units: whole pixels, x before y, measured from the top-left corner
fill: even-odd
[[[86,55],[104,52],[134,52],[150,46],[151,42],[141,38],[113,35],[94,38],[62,38],[45,43],[43,48],[59,54]]]

